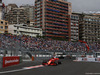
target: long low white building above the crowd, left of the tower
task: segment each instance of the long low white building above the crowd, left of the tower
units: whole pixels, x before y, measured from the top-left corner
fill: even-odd
[[[8,26],[8,33],[36,37],[37,35],[42,36],[42,29],[29,27],[28,25],[24,24],[14,24]]]

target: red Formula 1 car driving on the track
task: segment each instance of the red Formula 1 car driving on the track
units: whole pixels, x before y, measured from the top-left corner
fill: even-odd
[[[44,60],[42,62],[42,65],[58,65],[61,64],[61,61],[59,61],[59,58],[51,58],[49,60]]]

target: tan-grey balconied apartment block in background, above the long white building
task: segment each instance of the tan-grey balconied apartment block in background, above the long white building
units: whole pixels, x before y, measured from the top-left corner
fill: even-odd
[[[24,8],[13,8],[5,15],[9,24],[27,24],[28,17]]]

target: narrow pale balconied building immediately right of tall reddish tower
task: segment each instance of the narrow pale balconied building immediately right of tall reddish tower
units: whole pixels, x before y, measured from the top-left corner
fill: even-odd
[[[71,15],[71,41],[79,40],[79,15]]]

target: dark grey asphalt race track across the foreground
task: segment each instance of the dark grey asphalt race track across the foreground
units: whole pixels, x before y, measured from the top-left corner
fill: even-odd
[[[23,62],[0,69],[0,75],[100,75],[100,63],[74,62],[62,59],[58,66],[42,66],[41,62]]]

